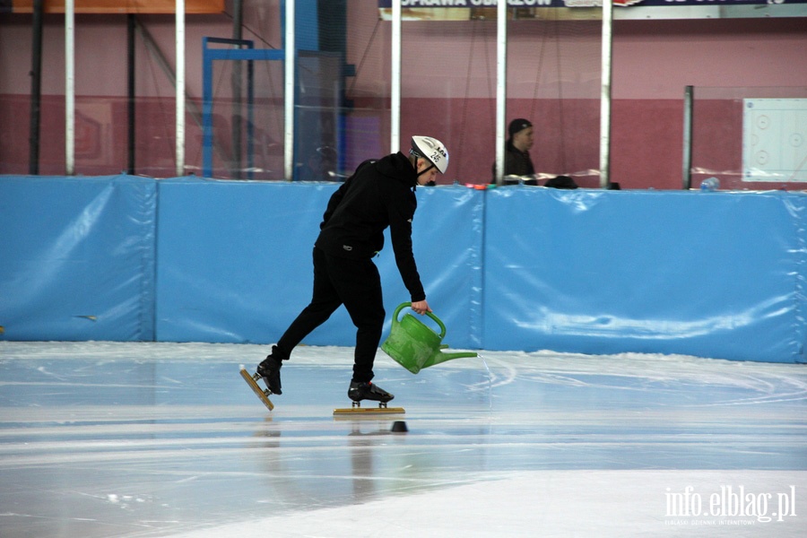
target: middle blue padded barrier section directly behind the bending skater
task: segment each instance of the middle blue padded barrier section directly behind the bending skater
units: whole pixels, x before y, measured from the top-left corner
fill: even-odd
[[[162,180],[158,340],[275,342],[308,304],[311,249],[337,187]],[[412,240],[424,287],[450,326],[447,341],[478,347],[473,328],[482,325],[482,196],[464,187],[417,192]],[[410,298],[388,234],[375,261],[391,313]],[[354,337],[350,317],[340,308],[305,343],[352,345]]]

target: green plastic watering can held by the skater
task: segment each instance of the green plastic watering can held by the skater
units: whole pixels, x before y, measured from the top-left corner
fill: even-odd
[[[443,325],[440,318],[431,312],[426,312],[426,315],[440,325],[440,334],[435,333],[427,325],[423,325],[412,314],[406,314],[403,319],[398,321],[398,314],[401,310],[411,306],[412,303],[408,302],[401,303],[398,308],[395,308],[392,329],[384,343],[381,344],[381,349],[401,366],[416,374],[421,369],[429,368],[440,362],[477,356],[474,351],[456,353],[440,351],[448,347],[442,343],[443,336],[446,335],[446,325]]]

